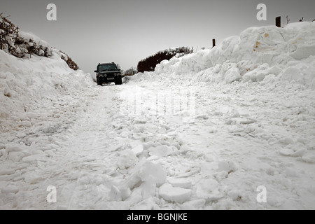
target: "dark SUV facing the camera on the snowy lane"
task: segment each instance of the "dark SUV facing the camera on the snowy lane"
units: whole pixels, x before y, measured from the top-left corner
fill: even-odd
[[[104,63],[97,65],[97,85],[103,83],[115,83],[115,85],[121,85],[123,83],[121,77],[121,71],[117,68],[114,62]]]

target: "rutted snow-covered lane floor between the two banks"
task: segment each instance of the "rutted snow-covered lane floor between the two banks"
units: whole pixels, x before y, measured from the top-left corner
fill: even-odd
[[[314,93],[130,82],[58,99],[1,133],[0,209],[315,209]]]

